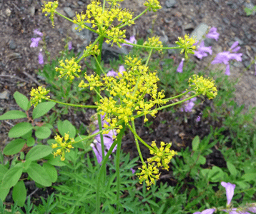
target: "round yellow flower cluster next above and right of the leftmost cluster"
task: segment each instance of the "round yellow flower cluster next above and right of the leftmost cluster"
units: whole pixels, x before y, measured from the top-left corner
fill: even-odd
[[[71,58],[70,60],[66,59],[65,63],[63,60],[59,61],[59,65],[62,68],[56,67],[55,70],[60,73],[59,78],[66,76],[66,78],[69,78],[69,81],[73,81],[74,76],[79,78],[80,76],[76,72],[81,72],[79,64],[77,64],[77,61],[75,61],[75,58]]]

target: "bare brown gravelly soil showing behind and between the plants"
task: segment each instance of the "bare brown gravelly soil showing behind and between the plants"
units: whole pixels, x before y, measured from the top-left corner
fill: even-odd
[[[121,6],[134,11],[135,17],[145,9],[142,2],[141,0],[124,0],[121,2]],[[189,34],[198,24],[205,23],[217,27],[217,32],[220,33],[219,40],[212,45],[212,56],[229,49],[230,42],[232,44],[236,41],[236,38],[240,39],[242,44],[239,52],[243,54],[244,60],[230,66],[230,79],[240,77],[236,86],[235,101],[239,105],[245,104],[246,111],[250,107],[256,106],[255,67],[251,66],[249,69],[245,69],[245,66],[248,66],[248,62],[252,61],[256,53],[256,24],[255,16],[245,15],[243,9],[245,3],[242,0],[179,0],[172,8],[167,8],[165,6],[166,1],[161,0],[160,4],[163,9],[157,11],[157,13],[148,12],[137,19],[136,25],[128,26],[126,28],[127,38],[134,35],[137,39],[143,38],[145,40],[146,36],[149,35],[149,29],[152,29],[157,36],[166,35],[168,37],[167,44],[174,44],[178,36],[184,36],[184,33]],[[251,3],[256,4],[256,0],[251,1]],[[86,10],[87,4],[89,4],[87,0],[60,0],[58,10],[61,14],[65,14],[64,7],[69,7],[72,11],[81,12]],[[13,98],[15,91],[29,97],[32,87],[35,88],[45,84],[36,75],[36,71],[43,67],[38,63],[38,54],[43,43],[39,41],[37,48],[30,48],[34,29],[39,29],[46,36],[47,51],[49,51],[52,58],[59,56],[60,51],[67,44],[67,37],[71,39],[75,53],[84,44],[84,41],[74,34],[70,22],[66,19],[55,16],[55,26],[53,28],[49,18],[41,13],[41,5],[40,0],[0,0],[0,93],[2,96],[6,95],[0,99],[0,114],[9,110],[19,110],[19,106],[16,105]],[[154,24],[152,23],[153,19],[155,20]],[[175,64],[179,64],[181,59],[179,54],[169,54],[169,57],[175,59]],[[205,68],[210,60],[212,60],[211,57],[198,60],[193,56],[192,61],[197,63],[195,73]],[[46,62],[46,55],[44,55],[44,61]],[[220,64],[210,65],[209,69],[223,69],[223,72],[225,72],[225,66]],[[205,106],[212,106],[212,101],[205,101],[191,114],[184,114],[179,111],[176,113],[160,112],[154,120],[151,120],[153,124],[150,128],[146,128],[143,126],[142,120],[138,120],[136,122],[137,133],[148,143],[154,140],[157,140],[158,143],[160,141],[172,142],[174,150],[180,151],[181,148],[191,146],[192,138],[195,136],[198,135],[200,138],[207,136],[210,133],[210,126],[213,126],[213,128],[222,126],[221,120],[216,122],[210,118],[195,122]],[[211,111],[214,111],[213,106]],[[184,116],[187,117],[187,120],[184,120]],[[81,112],[77,114],[69,112],[66,116],[63,116],[63,120],[74,121],[73,124],[77,128],[81,123],[88,124],[89,121],[86,118],[88,117]],[[166,123],[161,123],[163,120]],[[16,121],[1,121],[1,150],[10,141],[8,132],[15,123]],[[228,136],[229,133],[227,132],[225,135]],[[131,158],[137,156],[134,138],[131,133],[124,136],[122,145],[124,151],[131,154]],[[142,151],[144,151],[144,158],[149,157],[147,149],[143,150],[142,148]],[[225,161],[220,157],[218,151],[208,157],[209,161],[207,163],[212,164],[211,161],[215,161],[216,157],[220,161],[215,165],[225,166]],[[162,179],[166,180],[166,178],[165,176]],[[171,185],[174,184],[171,183]]]

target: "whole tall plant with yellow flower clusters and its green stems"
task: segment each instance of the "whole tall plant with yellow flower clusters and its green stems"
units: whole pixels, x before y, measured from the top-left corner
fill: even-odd
[[[109,7],[106,6],[106,3],[109,4]],[[46,16],[49,15],[53,26],[55,14],[64,17],[64,19],[68,19],[56,11],[57,6],[58,1],[49,1],[48,3],[44,3],[43,6],[43,12],[46,12]],[[144,6],[146,6],[147,9],[145,9],[142,14],[147,13],[147,11],[152,10],[155,12],[158,9],[162,9],[162,6],[160,6],[159,1],[157,0],[148,0],[144,3]],[[188,58],[188,54],[194,54],[194,50],[196,48],[194,44],[196,41],[195,38],[189,38],[187,35],[185,35],[184,38],[179,38],[179,41],[177,41],[178,46],[176,48],[164,48],[162,46],[162,42],[159,41],[159,37],[154,36],[149,38],[148,41],[145,41],[143,45],[130,44],[124,40],[126,38],[126,30],[122,30],[122,28],[127,25],[131,26],[132,24],[135,24],[134,21],[142,16],[142,14],[139,14],[139,16],[133,18],[131,11],[119,8],[117,0],[104,0],[103,5],[99,1],[94,0],[87,6],[87,11],[85,14],[82,12],[81,14],[77,14],[74,20],[68,19],[72,23],[78,25],[77,29],[79,31],[82,29],[89,29],[90,31],[99,34],[98,38],[93,42],[93,44],[90,44],[87,49],[84,50],[84,53],[80,58],[59,61],[59,66],[56,67],[56,71],[59,72],[59,77],[67,78],[69,79],[70,83],[72,83],[72,80],[75,77],[80,78],[77,73],[81,71],[79,61],[81,61],[82,58],[92,55],[97,61],[97,71],[90,76],[85,74],[84,79],[82,79],[79,83],[80,88],[89,87],[91,91],[95,91],[97,93],[97,101],[95,102],[95,106],[76,105],[82,108],[97,108],[99,132],[94,133],[91,136],[87,136],[86,138],[93,138],[98,134],[101,136],[103,161],[99,170],[97,191],[99,191],[99,186],[102,182],[101,176],[106,172],[105,168],[107,158],[109,158],[109,155],[112,153],[112,150],[116,145],[117,159],[119,157],[121,140],[122,136],[124,135],[124,128],[126,127],[129,128],[134,134],[139,157],[142,161],[142,168],[139,168],[141,172],[137,173],[139,176],[139,181],[142,182],[145,180],[148,188],[150,185],[152,185],[152,183],[155,183],[155,180],[159,178],[159,168],[162,167],[168,170],[169,162],[171,161],[172,157],[177,154],[175,151],[170,150],[172,145],[171,143],[161,142],[161,147],[157,148],[155,142],[152,142],[151,146],[144,142],[136,133],[136,128],[134,126],[134,120],[136,118],[144,116],[144,122],[147,122],[147,115],[156,116],[159,110],[188,101],[189,99],[199,96],[200,94],[206,95],[210,99],[217,96],[215,81],[209,80],[202,76],[193,76],[193,78],[189,78],[190,89],[178,96],[164,98],[164,91],[158,91],[157,88],[157,81],[159,81],[157,71],[150,71],[149,67],[147,66],[153,50],[155,49],[161,52],[162,49],[181,49],[181,54],[184,53],[185,58]],[[114,19],[119,21],[117,26],[112,24]],[[91,23],[92,28],[87,26],[87,23]],[[117,46],[121,46],[121,43],[138,46],[144,49],[150,49],[149,56],[144,64],[139,56],[126,56],[126,71],[118,73],[118,75],[115,77],[108,76],[107,73],[104,72],[104,69],[100,66],[102,64],[101,54],[103,41],[106,41],[108,44],[111,43],[112,45],[117,44]],[[190,91],[192,91],[194,94],[189,98],[178,101],[177,103],[168,104],[168,102],[172,99],[184,96]],[[109,96],[106,96],[104,92],[107,92]],[[49,91],[46,91],[46,89],[42,88],[41,86],[36,89],[33,88],[31,91],[31,104],[36,106],[36,104],[40,103],[41,100],[53,101],[49,98],[49,96],[46,96],[47,93],[49,93]],[[74,106],[69,103],[61,104]],[[107,121],[107,123],[104,123],[103,126],[101,116],[104,116],[104,121]],[[118,134],[117,136],[113,135],[114,143],[109,148],[107,155],[104,156],[104,141],[102,134],[107,134],[109,131],[113,130],[115,130]],[[84,139],[81,141],[83,140]],[[55,137],[55,141],[56,143],[53,143],[51,146],[54,148],[54,150],[56,150],[54,152],[54,157],[61,156],[62,161],[65,159],[65,153],[69,152],[69,150],[73,148],[72,145],[74,145],[74,143],[81,142],[70,139],[68,133],[66,133],[64,136],[64,143],[62,143],[63,139],[58,135]],[[144,146],[147,146],[152,154],[152,158],[147,159],[148,163],[145,163],[144,159],[142,158],[142,153],[139,148],[139,141],[143,143]],[[116,165],[116,168],[118,183],[119,164]],[[119,185],[120,184],[117,185],[117,200],[119,200]],[[97,213],[99,213],[100,200],[98,192],[97,205]]]

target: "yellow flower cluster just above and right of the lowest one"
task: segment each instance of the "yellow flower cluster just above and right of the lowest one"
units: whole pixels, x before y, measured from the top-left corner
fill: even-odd
[[[169,170],[169,162],[172,160],[172,157],[174,155],[177,155],[176,151],[171,151],[169,149],[172,146],[172,143],[161,142],[161,147],[157,148],[155,141],[152,141],[151,146],[153,147],[153,149],[150,150],[150,154],[154,155],[154,157],[147,158],[147,161],[149,163],[156,162],[157,167],[163,167],[165,170]]]

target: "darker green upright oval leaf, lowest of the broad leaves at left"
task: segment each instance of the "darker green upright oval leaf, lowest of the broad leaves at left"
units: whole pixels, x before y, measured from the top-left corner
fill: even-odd
[[[23,180],[14,185],[14,188],[12,189],[12,199],[17,203],[18,206],[24,206],[26,201],[26,188]]]

